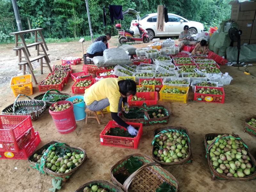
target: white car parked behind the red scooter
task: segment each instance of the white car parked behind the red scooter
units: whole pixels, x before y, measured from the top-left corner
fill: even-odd
[[[141,17],[139,21],[142,28],[148,31],[149,39],[152,40],[158,36],[179,36],[180,32],[183,31],[184,26],[188,25],[189,32],[191,35],[200,33],[204,30],[202,23],[196,21],[189,21],[179,15],[168,13],[169,22],[164,23],[164,31],[156,30],[156,18],[157,13],[147,14]],[[134,35],[140,35],[138,28],[136,27],[138,20],[132,20],[130,31],[134,31]]]

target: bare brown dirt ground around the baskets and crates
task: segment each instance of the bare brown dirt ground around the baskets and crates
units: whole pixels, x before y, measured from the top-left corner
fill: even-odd
[[[112,38],[110,46],[116,46],[116,39]],[[17,75],[18,66],[17,57],[13,57],[13,45],[2,46],[0,49],[1,76],[4,74]],[[145,44],[136,44],[136,47],[144,47]],[[60,64],[63,56],[81,56],[81,44],[78,42],[48,44],[51,65]],[[82,63],[72,66],[74,72],[82,71]],[[35,65],[36,66],[36,65]],[[256,74],[256,68],[248,68],[252,74]],[[248,145],[253,156],[256,154],[256,140],[248,133],[243,132],[244,119],[255,115],[256,100],[256,81],[255,77],[244,75],[243,71],[236,67],[221,66],[220,70],[228,72],[234,80],[230,85],[225,85],[225,103],[204,103],[188,101],[186,104],[177,102],[162,102],[170,108],[172,115],[169,123],[165,125],[144,126],[143,135],[138,149],[125,149],[117,147],[108,147],[100,145],[99,134],[108,121],[110,114],[101,118],[101,125],[96,120],[89,119],[88,124],[85,121],[77,121],[77,128],[74,132],[60,134],[56,131],[52,117],[48,110],[37,120],[33,122],[35,131],[38,131],[42,142],[38,148],[52,140],[60,140],[71,146],[84,148],[88,156],[87,161],[77,170],[68,180],[62,184],[59,191],[74,192],[79,186],[92,179],[102,179],[110,181],[110,168],[123,156],[132,153],[145,153],[151,156],[152,131],[161,126],[184,126],[188,128],[191,140],[193,163],[187,165],[164,167],[172,173],[179,182],[181,192],[252,192],[255,191],[256,180],[250,181],[225,181],[212,180],[209,166],[205,158],[205,149],[203,145],[204,136],[207,133],[236,133]],[[3,74],[4,72],[4,74]],[[40,82],[48,74],[48,69],[44,68],[44,74],[40,75],[39,68],[36,68],[36,78]],[[9,87],[9,76],[7,81],[2,83],[0,89],[0,110],[13,103],[15,97]],[[69,80],[67,86],[62,92],[70,93],[73,82]],[[38,87],[33,84],[35,97]],[[189,99],[194,94],[192,89],[189,91]],[[15,169],[17,167],[17,169]],[[46,192],[52,186],[52,178],[40,175],[38,171],[29,168],[26,160],[1,160],[0,164],[1,191],[3,192]]]

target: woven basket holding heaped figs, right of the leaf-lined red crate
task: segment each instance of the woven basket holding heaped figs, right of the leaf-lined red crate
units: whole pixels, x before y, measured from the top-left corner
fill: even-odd
[[[156,157],[154,156],[154,142],[155,142],[156,138],[160,136],[161,133],[165,133],[165,132],[179,132],[180,134],[184,134],[188,138],[188,157],[187,158],[184,158],[183,160],[181,160],[179,162],[172,162],[172,163],[165,163],[165,162],[161,162],[156,159]],[[179,127],[179,126],[168,126],[168,127],[156,128],[153,131],[152,157],[153,157],[154,161],[161,164],[162,166],[192,163],[193,157],[192,157],[190,139],[189,139],[189,135],[188,135],[188,129],[186,127]]]

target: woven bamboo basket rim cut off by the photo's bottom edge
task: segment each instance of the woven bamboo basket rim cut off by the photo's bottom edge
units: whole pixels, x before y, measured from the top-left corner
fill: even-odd
[[[105,180],[88,181],[88,182],[84,183],[84,185],[82,185],[81,187],[76,189],[75,192],[84,192],[83,189],[85,187],[92,187],[92,185],[97,185],[98,187],[106,188],[106,189],[108,189],[109,192],[124,192],[120,187],[114,185],[113,183],[105,181]]]

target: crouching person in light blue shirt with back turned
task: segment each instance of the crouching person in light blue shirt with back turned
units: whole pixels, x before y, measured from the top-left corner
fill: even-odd
[[[92,43],[87,49],[87,55],[89,58],[96,56],[103,56],[103,51],[106,49],[107,39],[102,38],[101,41],[96,41]]]

